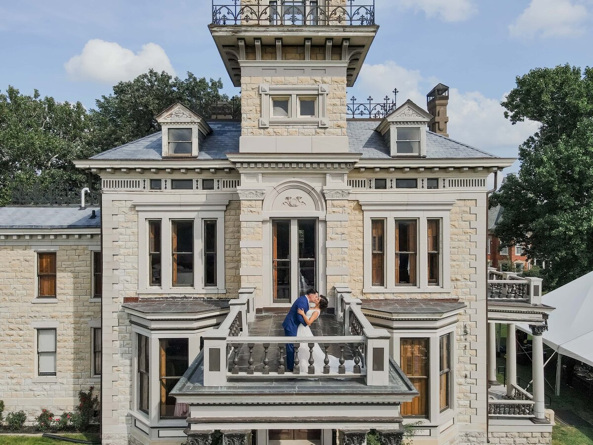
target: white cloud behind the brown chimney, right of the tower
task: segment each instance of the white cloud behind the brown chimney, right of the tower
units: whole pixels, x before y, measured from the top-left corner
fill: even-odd
[[[370,94],[376,101],[394,87],[400,91],[397,103],[411,99],[426,109],[426,94],[439,82],[433,77],[423,77],[420,71],[407,69],[396,62],[364,65],[358,77],[356,91],[361,97]],[[447,82],[444,82],[447,83]],[[451,85],[449,85],[451,87]],[[358,97],[358,96],[357,96]],[[449,90],[447,131],[452,139],[490,151],[501,157],[514,157],[517,147],[537,129],[533,122],[511,125],[505,119],[501,98],[490,98],[478,91]]]

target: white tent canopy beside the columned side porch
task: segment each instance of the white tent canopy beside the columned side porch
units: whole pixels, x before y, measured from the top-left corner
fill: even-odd
[[[558,354],[593,366],[593,272],[541,297],[555,307],[543,341]],[[518,326],[530,332],[528,326]]]

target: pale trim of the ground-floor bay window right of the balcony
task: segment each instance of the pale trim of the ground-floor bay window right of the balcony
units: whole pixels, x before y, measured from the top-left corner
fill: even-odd
[[[394,360],[396,361],[397,365],[401,365],[401,349],[400,349],[400,339],[402,338],[428,338],[428,355],[429,355],[429,370],[428,370],[428,381],[429,381],[429,389],[428,389],[428,399],[429,399],[429,406],[428,406],[428,419],[424,417],[406,417],[404,418],[404,423],[415,422],[418,419],[423,419],[425,423],[420,426],[419,428],[429,427],[429,426],[438,426],[442,425],[445,422],[449,421],[449,419],[455,417],[455,408],[457,405],[457,397],[456,397],[456,384],[455,384],[455,363],[457,363],[457,345],[455,341],[455,326],[457,323],[454,323],[449,326],[445,326],[441,329],[397,329],[394,330],[392,335],[392,342],[393,349],[392,355]],[[443,335],[449,334],[451,335],[451,379],[449,379],[449,396],[450,396],[450,403],[449,408],[445,409],[441,412],[440,409],[440,400],[439,400],[439,390],[441,385],[441,379],[439,379],[439,375],[441,374],[441,357],[440,357],[440,338]]]

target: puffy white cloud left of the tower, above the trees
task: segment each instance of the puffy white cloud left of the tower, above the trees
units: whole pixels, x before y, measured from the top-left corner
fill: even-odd
[[[119,82],[131,80],[150,68],[175,75],[165,50],[156,43],[146,43],[138,53],[116,42],[89,40],[79,55],[64,64],[74,80]]]

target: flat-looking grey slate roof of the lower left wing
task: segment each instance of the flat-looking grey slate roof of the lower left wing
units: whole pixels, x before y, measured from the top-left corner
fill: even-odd
[[[95,211],[95,218],[93,218]],[[75,206],[8,206],[0,208],[0,230],[3,228],[100,228],[98,207]]]

